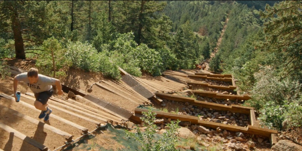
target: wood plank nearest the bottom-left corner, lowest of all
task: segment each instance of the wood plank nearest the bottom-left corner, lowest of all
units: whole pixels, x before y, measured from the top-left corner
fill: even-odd
[[[38,149],[42,150],[42,151],[47,151],[48,148],[46,146],[44,146],[43,144],[37,142],[36,140],[30,138],[30,137],[27,137],[26,135],[22,134],[21,132],[15,130],[14,128],[11,128],[9,127],[8,125],[5,125],[4,123],[0,122],[0,128],[2,128],[3,130],[11,133],[13,132],[14,133],[14,136],[15,137],[18,137],[20,138],[21,140],[37,147]]]

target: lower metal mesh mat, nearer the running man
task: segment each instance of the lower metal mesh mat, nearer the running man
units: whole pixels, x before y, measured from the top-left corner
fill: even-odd
[[[87,100],[90,100],[90,101],[92,101],[92,102],[94,102],[94,103],[110,110],[111,112],[114,112],[114,113],[116,113],[120,116],[123,116],[126,119],[129,119],[133,115],[133,113],[130,112],[129,110],[124,109],[120,106],[117,106],[113,103],[107,102],[107,101],[105,101],[103,99],[100,99],[98,97],[95,97],[93,95],[87,94],[87,95],[85,95],[84,98],[86,98]]]

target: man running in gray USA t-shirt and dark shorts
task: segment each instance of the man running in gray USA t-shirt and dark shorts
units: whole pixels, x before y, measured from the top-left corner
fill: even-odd
[[[14,77],[14,96],[16,101],[18,100],[16,96],[18,81],[27,83],[31,91],[34,92],[36,98],[34,106],[36,109],[41,110],[39,119],[44,118],[44,121],[48,121],[52,109],[48,107],[47,101],[53,94],[52,85],[56,85],[59,95],[63,94],[60,80],[41,75],[36,68],[31,68],[28,72],[18,74]]]

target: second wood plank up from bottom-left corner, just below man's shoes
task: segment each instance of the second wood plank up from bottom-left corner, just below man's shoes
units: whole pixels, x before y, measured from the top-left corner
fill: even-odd
[[[34,119],[34,118],[32,118],[30,116],[27,116],[27,115],[24,115],[24,114],[22,114],[22,113],[20,113],[20,112],[18,112],[16,110],[10,109],[10,108],[8,108],[6,106],[3,106],[3,105],[0,105],[0,107],[1,107],[2,111],[6,111],[6,112],[9,112],[11,114],[14,114],[15,116],[19,116],[19,117],[21,117],[21,118],[23,118],[23,119],[25,119],[25,120],[27,120],[27,121],[29,121],[31,123],[34,123],[36,125],[39,125],[39,123],[40,123],[40,121],[38,121],[37,119]],[[58,128],[55,128],[53,126],[50,126],[48,124],[43,123],[43,128],[45,128],[47,130],[50,130],[50,131],[52,131],[52,132],[54,132],[56,134],[62,135],[63,137],[65,137],[66,140],[71,140],[71,138],[72,138],[71,134],[69,134],[69,133],[67,133],[65,131],[62,131],[62,130],[60,130]]]

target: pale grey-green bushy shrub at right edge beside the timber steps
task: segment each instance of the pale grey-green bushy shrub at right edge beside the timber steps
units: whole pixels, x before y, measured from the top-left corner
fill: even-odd
[[[271,67],[261,67],[254,76],[257,82],[251,91],[252,99],[246,102],[256,109],[263,108],[271,100],[275,105],[284,105],[285,100],[296,102],[302,96],[302,84],[289,79],[281,81]]]

